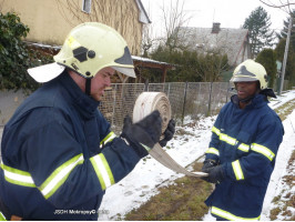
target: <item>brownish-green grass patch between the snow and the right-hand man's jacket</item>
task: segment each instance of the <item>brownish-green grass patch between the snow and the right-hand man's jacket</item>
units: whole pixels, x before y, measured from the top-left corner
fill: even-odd
[[[193,168],[201,170],[196,162]],[[199,178],[183,176],[174,184],[160,188],[141,208],[132,210],[125,221],[200,221],[208,209],[204,201],[212,192],[212,185]]]

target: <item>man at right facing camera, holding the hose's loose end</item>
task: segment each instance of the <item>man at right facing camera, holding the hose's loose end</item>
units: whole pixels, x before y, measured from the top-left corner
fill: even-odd
[[[275,167],[284,129],[267,105],[264,67],[246,60],[236,67],[231,82],[236,94],[226,103],[212,129],[202,168],[215,183],[205,203],[216,220],[260,220],[264,195]]]

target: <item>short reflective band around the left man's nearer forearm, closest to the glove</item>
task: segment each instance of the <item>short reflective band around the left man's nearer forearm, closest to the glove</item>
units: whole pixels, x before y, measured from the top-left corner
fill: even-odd
[[[90,161],[99,178],[102,190],[105,190],[106,188],[114,184],[113,173],[105,157],[102,153],[94,155],[90,159]]]

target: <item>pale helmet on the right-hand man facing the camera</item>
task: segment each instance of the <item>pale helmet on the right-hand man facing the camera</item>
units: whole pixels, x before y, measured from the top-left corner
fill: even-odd
[[[267,88],[267,73],[261,63],[254,60],[246,60],[238,64],[233,73],[231,82],[260,81],[261,90]]]

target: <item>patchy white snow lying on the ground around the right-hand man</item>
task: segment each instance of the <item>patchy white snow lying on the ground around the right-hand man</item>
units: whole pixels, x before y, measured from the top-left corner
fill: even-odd
[[[295,90],[288,91],[277,97],[277,99],[272,100],[269,107],[276,109],[292,99],[295,99]],[[166,152],[182,167],[190,165],[202,157],[207,149],[211,139],[211,128],[215,119],[216,115],[202,118],[197,123],[193,123],[190,118],[186,118],[185,127],[176,128],[175,137],[169,142]],[[282,192],[284,186],[284,183],[278,181],[286,174],[287,161],[292,151],[295,149],[295,111],[284,121],[284,128],[285,135],[279,152],[277,153],[276,168],[266,193],[262,221],[269,220],[269,210],[274,208],[271,202],[274,196]],[[132,209],[139,208],[151,196],[155,195],[159,186],[172,184],[175,179],[183,175],[166,169],[151,157],[141,160],[126,178],[106,189],[100,208],[100,212],[105,213],[101,213],[99,220],[120,219]],[[215,219],[208,213],[203,220],[212,221]]]

